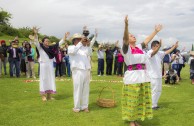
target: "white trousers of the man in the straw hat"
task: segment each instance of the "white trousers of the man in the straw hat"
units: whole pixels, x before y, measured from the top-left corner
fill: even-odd
[[[74,110],[88,108],[90,71],[76,69],[72,71]]]

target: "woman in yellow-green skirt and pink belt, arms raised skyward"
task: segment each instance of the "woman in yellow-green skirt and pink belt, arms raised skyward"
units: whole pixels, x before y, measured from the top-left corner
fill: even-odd
[[[162,29],[156,25],[154,32],[143,43],[136,45],[136,38],[128,32],[128,16],[125,17],[122,53],[128,70],[124,74],[122,92],[122,119],[130,121],[130,126],[138,126],[137,120],[151,119],[152,103],[150,79],[146,72],[146,60],[149,58],[142,49]],[[158,51],[154,50],[153,55]]]

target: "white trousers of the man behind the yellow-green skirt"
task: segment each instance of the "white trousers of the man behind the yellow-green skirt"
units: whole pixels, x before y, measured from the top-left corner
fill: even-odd
[[[158,106],[158,100],[162,92],[162,78],[151,78],[152,107]]]

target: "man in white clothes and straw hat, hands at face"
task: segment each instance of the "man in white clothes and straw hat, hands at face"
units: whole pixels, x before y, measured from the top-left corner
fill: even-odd
[[[73,78],[74,112],[81,110],[89,112],[89,83],[90,83],[90,41],[81,34],[72,36],[73,45],[68,47],[70,66]]]

